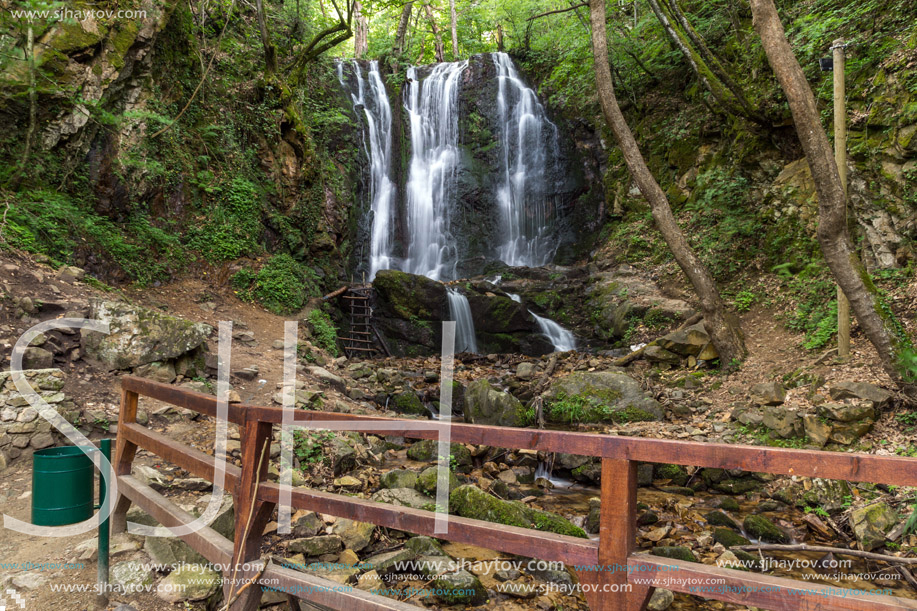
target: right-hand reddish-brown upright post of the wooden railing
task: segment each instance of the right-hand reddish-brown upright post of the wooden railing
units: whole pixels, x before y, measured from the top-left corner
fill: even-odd
[[[652,588],[628,583],[627,558],[637,536],[637,463],[602,459],[598,566],[578,577],[592,611],[644,609]]]

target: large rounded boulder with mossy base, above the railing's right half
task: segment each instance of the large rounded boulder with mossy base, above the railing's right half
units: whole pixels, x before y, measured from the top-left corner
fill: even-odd
[[[545,417],[552,422],[633,422],[661,420],[662,407],[639,382],[613,371],[572,373],[556,380],[544,395]]]

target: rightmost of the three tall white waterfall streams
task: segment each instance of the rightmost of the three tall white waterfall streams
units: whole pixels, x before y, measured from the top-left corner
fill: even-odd
[[[497,110],[502,144],[502,180],[497,202],[503,223],[498,248],[508,265],[538,267],[553,259],[553,201],[550,166],[556,163],[558,133],[535,92],[506,53],[494,53],[499,80]]]

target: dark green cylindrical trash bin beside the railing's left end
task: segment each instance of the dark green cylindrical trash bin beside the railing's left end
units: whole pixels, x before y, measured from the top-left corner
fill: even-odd
[[[32,456],[32,524],[64,526],[92,517],[94,467],[90,455],[98,451],[95,446],[35,451]]]

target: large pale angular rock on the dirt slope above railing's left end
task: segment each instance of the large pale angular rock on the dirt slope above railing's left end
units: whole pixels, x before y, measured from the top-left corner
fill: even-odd
[[[84,330],[81,349],[87,359],[108,369],[131,369],[168,361],[199,348],[213,328],[120,301],[90,301],[90,318],[109,324],[105,335]]]

